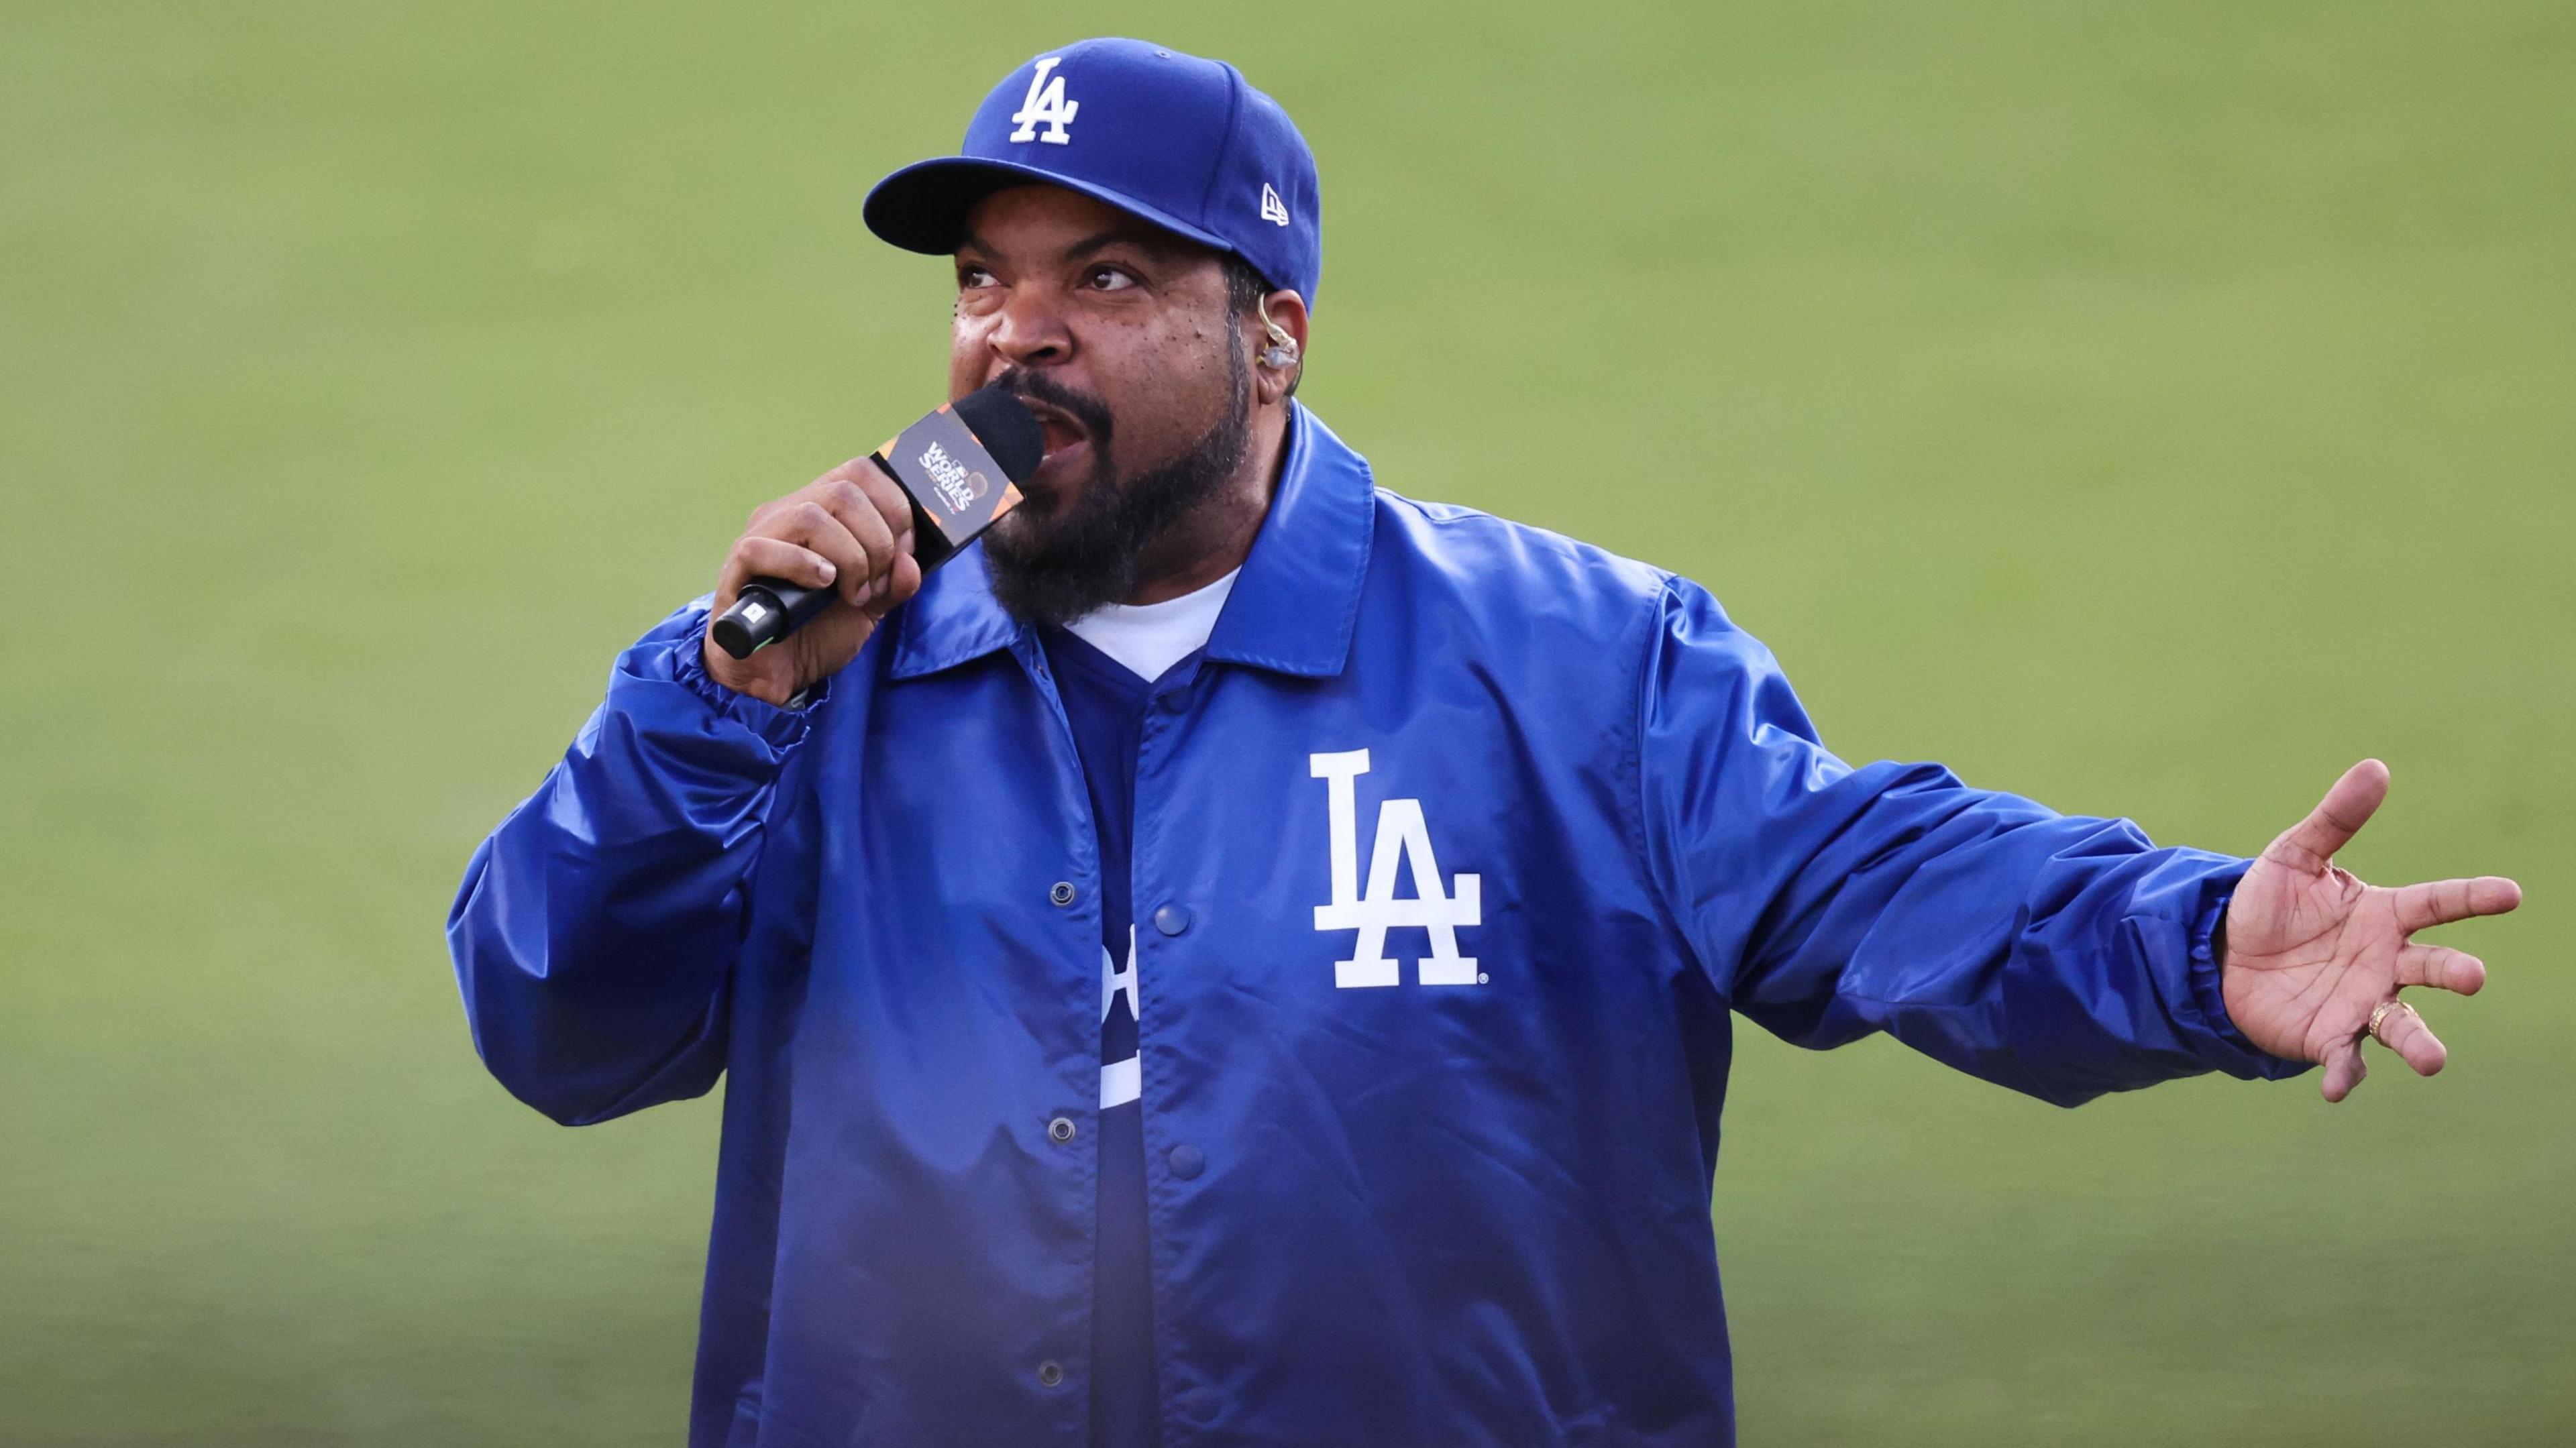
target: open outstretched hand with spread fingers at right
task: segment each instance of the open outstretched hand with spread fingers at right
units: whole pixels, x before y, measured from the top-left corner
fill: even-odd
[[[2362,1036],[2398,987],[2476,995],[2486,984],[2478,956],[2419,946],[2411,935],[2522,904],[2522,886],[2501,876],[2380,889],[2336,866],[2334,853],[2383,799],[2388,765],[2352,765],[2306,819],[2272,840],[2228,902],[2218,976],[2228,1018],[2275,1056],[2324,1062],[2326,1100],[2362,1085]],[[2380,1041],[2424,1077],[2447,1059],[2424,1018],[2403,1005],[2383,1015]]]

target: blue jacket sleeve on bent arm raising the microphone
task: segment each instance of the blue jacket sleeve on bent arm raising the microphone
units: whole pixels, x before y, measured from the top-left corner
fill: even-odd
[[[706,675],[701,598],[618,657],[608,698],[474,850],[448,953],[484,1067],[582,1126],[703,1095],[788,752],[811,711]]]

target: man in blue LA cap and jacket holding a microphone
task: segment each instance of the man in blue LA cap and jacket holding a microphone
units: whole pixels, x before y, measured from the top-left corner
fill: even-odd
[[[1855,770],[1700,587],[1373,490],[1231,67],[1036,57],[866,216],[1028,502],[927,582],[866,461],[755,510],[448,922],[549,1116],[729,1077],[690,1443],[1728,1443],[1731,1010],[2066,1105],[2442,1067],[2409,935],[2519,891],[2334,868],[2378,763],[2259,861]],[[755,575],[837,603],[737,662]]]

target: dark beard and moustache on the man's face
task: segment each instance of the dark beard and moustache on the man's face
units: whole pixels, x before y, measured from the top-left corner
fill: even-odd
[[[1061,407],[1090,430],[1092,479],[1046,513],[1020,502],[984,533],[984,575],[994,600],[1020,624],[1064,626],[1136,593],[1136,559],[1234,479],[1252,443],[1252,371],[1231,358],[1226,415],[1167,464],[1118,472],[1110,410],[1061,381],[1010,368],[994,379],[1018,397]]]

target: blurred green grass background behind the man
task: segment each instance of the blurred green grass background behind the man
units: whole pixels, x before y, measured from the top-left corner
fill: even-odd
[[[677,1443],[714,1103],[510,1103],[440,917],[938,397],[860,193],[1082,33],[1296,113],[1381,479],[1708,582],[1839,752],[2239,853],[2378,752],[2347,863],[2530,889],[2331,1110],[1747,1031],[1747,1443],[2576,1440],[2563,0],[13,0],[0,1443]]]

